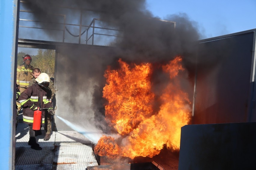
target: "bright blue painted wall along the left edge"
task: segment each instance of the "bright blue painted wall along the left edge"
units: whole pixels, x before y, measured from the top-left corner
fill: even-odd
[[[0,167],[14,169],[13,107],[17,1],[0,0]],[[16,81],[16,78],[15,78]],[[15,137],[15,136],[14,136]]]

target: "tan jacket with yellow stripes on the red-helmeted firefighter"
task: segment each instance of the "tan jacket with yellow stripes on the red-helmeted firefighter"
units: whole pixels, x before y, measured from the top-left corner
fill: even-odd
[[[25,65],[20,65],[17,67],[17,84],[20,87],[29,87],[29,81],[34,77],[32,75],[34,67],[29,65],[28,68]]]

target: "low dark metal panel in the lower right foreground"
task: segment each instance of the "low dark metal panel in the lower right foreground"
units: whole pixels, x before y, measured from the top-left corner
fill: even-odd
[[[256,122],[185,125],[179,170],[256,169]]]

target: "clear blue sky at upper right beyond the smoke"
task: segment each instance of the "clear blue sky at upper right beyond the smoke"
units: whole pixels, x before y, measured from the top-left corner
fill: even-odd
[[[203,38],[256,28],[256,0],[146,0],[154,16],[165,19],[171,14],[186,13],[198,23]]]

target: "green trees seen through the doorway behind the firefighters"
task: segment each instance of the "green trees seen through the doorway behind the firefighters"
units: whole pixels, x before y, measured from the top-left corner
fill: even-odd
[[[17,66],[23,64],[23,56],[26,55],[24,52],[17,54]],[[30,55],[30,54],[29,54]],[[55,66],[55,50],[42,50],[38,49],[37,55],[30,55],[32,57],[31,65],[34,68],[39,68],[42,73],[46,73],[49,77],[54,77],[54,66]]]

